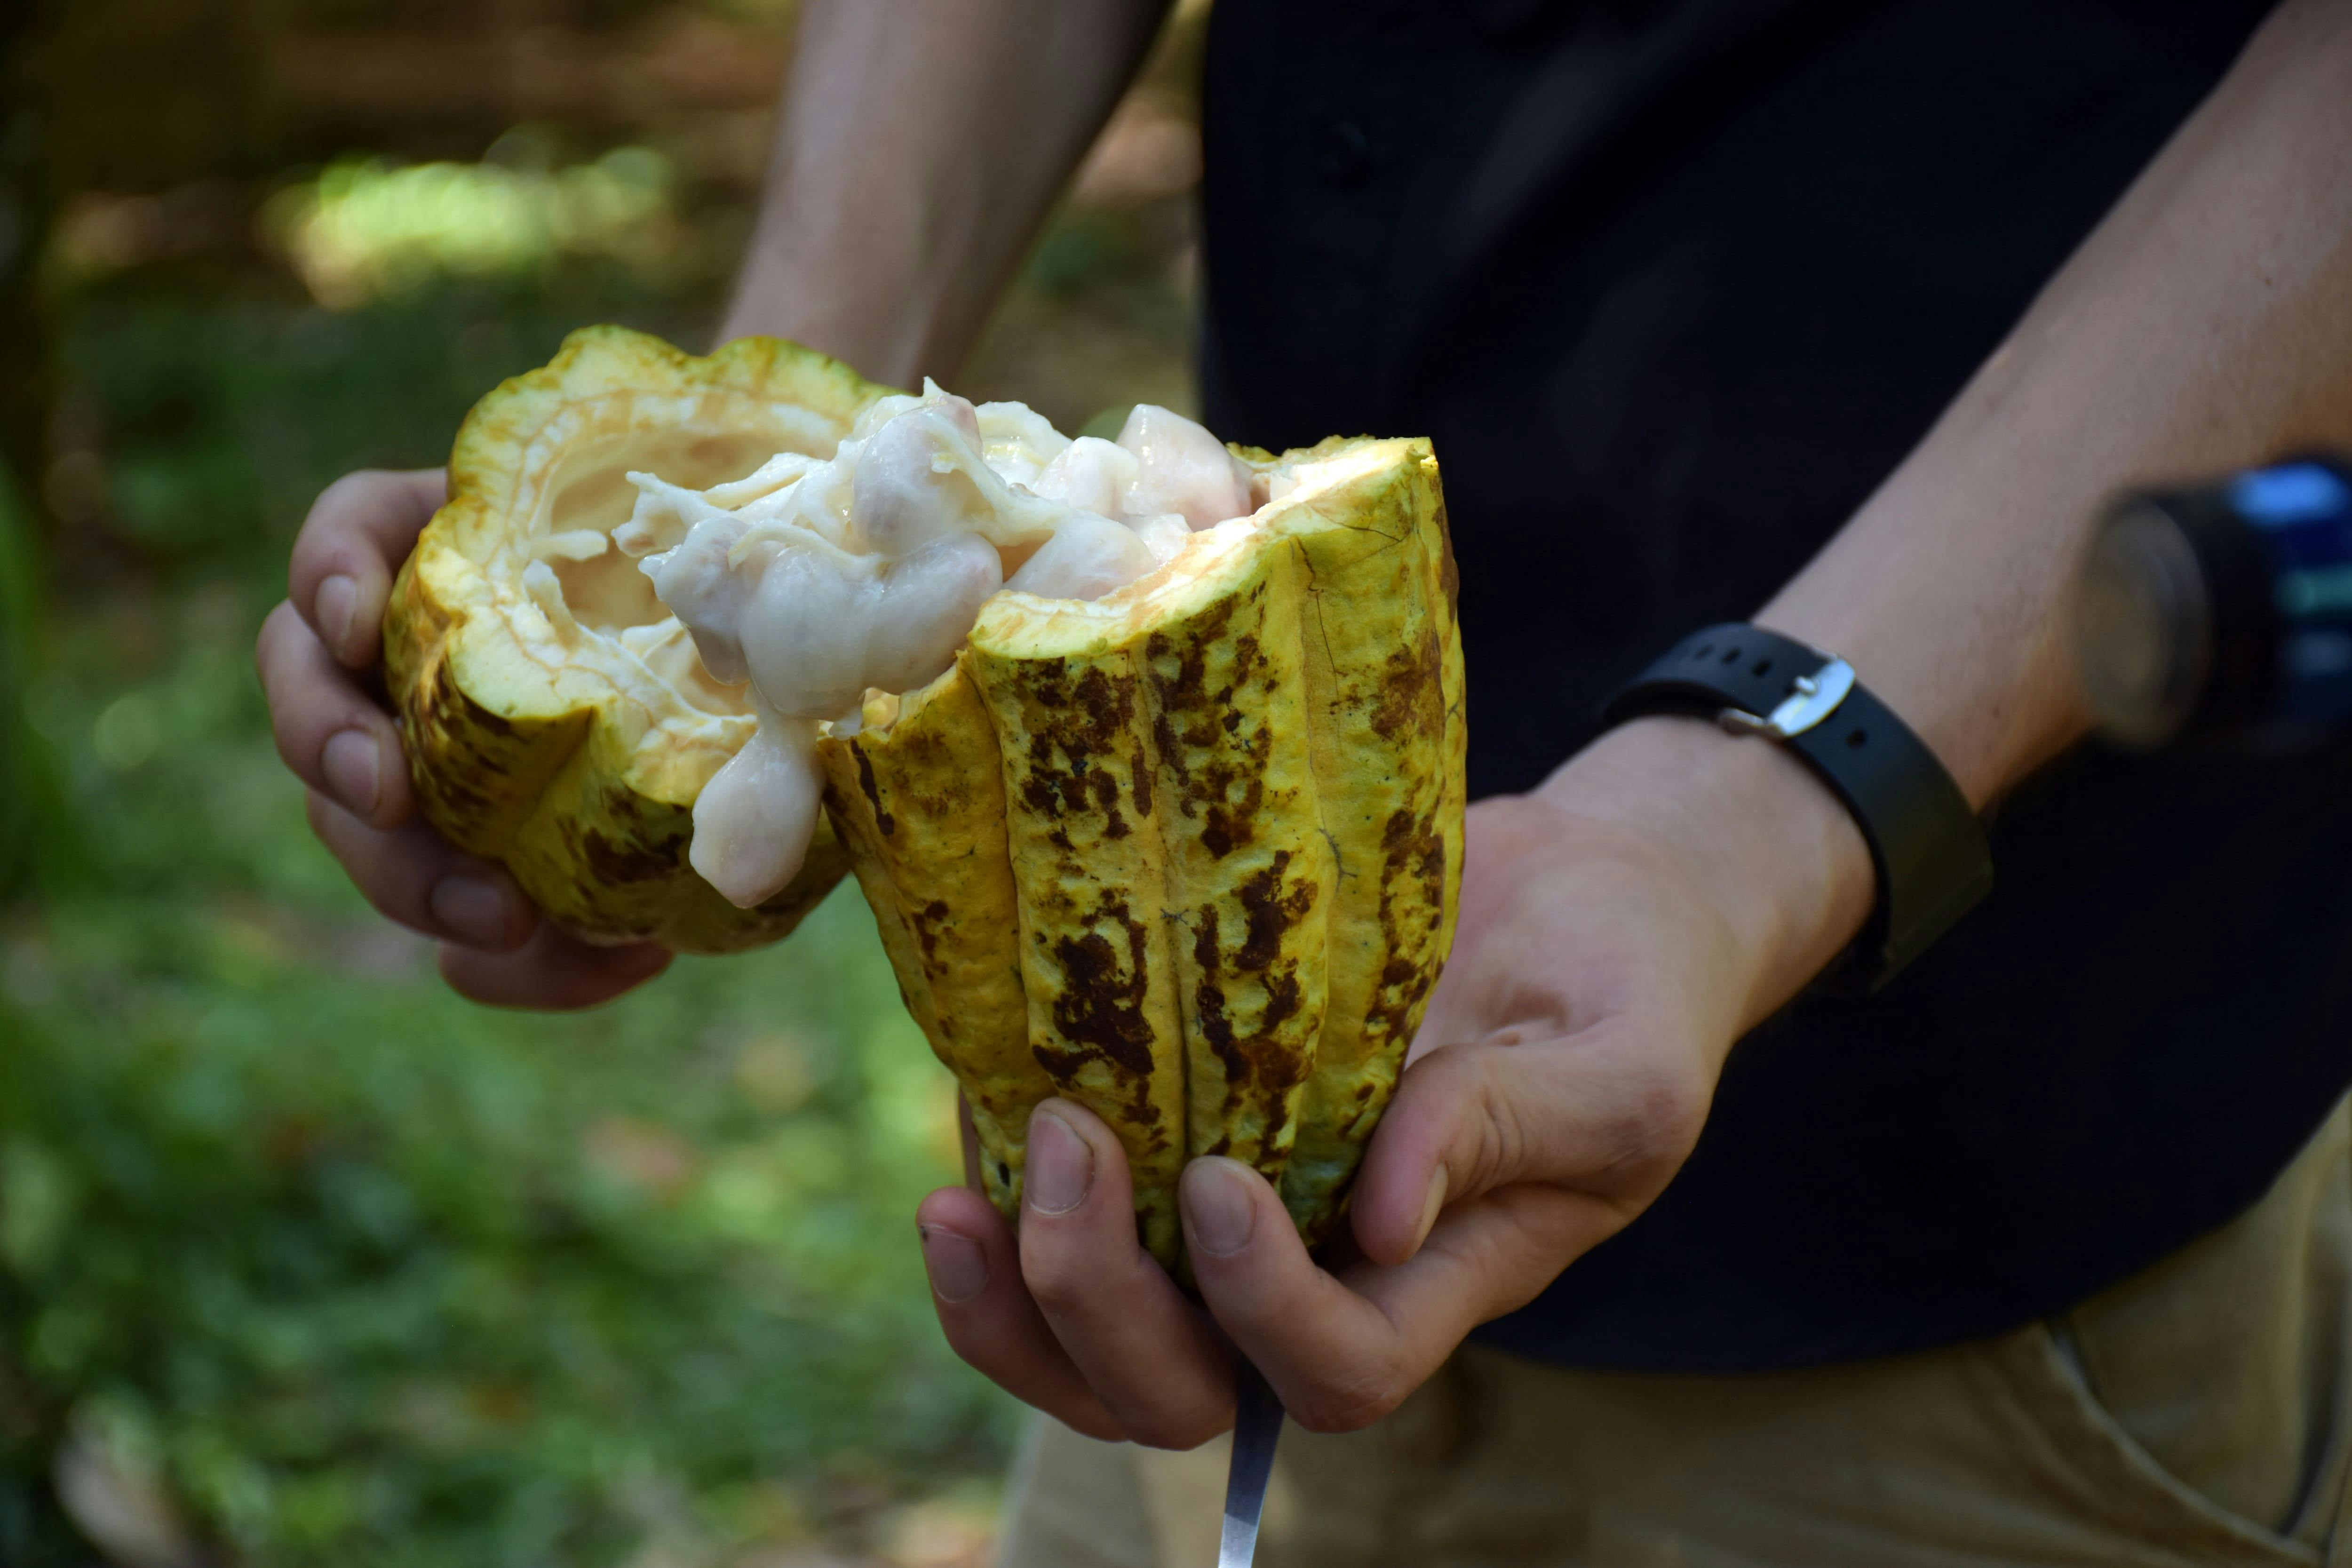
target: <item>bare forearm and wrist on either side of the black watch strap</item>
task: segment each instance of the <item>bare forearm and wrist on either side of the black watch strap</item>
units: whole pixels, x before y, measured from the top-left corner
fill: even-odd
[[[2347,437],[2352,2],[2298,0],[1755,618],[1851,661],[1983,806],[2084,731],[2065,609],[2100,501]],[[1545,797],[1677,835],[1750,1023],[1870,912],[1860,835],[1778,748],[1653,719]]]

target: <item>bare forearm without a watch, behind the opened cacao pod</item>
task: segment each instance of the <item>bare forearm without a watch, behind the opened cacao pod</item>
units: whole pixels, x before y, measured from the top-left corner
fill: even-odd
[[[1167,0],[807,0],[720,341],[953,374]]]

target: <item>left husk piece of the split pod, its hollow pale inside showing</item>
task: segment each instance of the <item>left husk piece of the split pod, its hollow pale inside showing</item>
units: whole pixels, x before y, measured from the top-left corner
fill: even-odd
[[[635,562],[550,555],[630,515],[633,468],[715,484],[776,451],[830,456],[889,388],[774,339],[689,357],[621,327],[574,331],[480,404],[449,503],[402,567],[383,663],[423,818],[501,860],[557,924],[602,943],[734,952],[786,936],[847,870],[828,830],[755,910],[687,865],[694,797],[753,733],[701,675]],[[541,562],[553,574],[529,569]],[[626,628],[640,628],[623,646]]]

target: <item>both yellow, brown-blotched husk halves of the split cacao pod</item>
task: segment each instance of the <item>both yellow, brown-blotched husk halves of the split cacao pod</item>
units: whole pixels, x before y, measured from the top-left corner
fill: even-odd
[[[826,726],[818,839],[736,910],[687,846],[753,708],[609,548],[626,475],[713,487],[826,456],[884,395],[790,343],[696,360],[597,327],[485,397],[386,614],[426,818],[595,940],[750,947],[854,867],[1009,1218],[1028,1114],[1068,1095],[1122,1138],[1171,1267],[1195,1154],[1265,1173],[1319,1241],[1461,884],[1463,663],[1428,442],[1232,449],[1254,515],[1091,602],[990,597],[946,675]]]

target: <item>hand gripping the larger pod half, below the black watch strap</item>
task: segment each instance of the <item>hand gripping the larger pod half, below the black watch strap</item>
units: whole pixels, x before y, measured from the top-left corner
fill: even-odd
[[[1343,1258],[1317,1267],[1251,1168],[1195,1159],[1192,1305],[1136,1244],[1117,1138],[1054,1100],[1030,1119],[1018,1237],[976,1192],[924,1199],[948,1340],[1105,1439],[1221,1432],[1228,1342],[1301,1425],[1362,1427],[1665,1190],[1731,1044],[1867,907],[1860,835],[1797,762],[1679,719],[1616,731],[1543,792],[1470,811],[1454,959]]]

